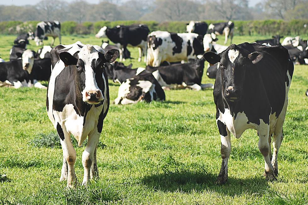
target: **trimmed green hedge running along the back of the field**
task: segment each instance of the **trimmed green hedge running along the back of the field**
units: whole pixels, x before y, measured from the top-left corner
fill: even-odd
[[[207,24],[218,23],[222,21],[205,21]],[[18,34],[29,30],[34,31],[38,21],[20,22],[4,21],[0,22],[0,34]],[[162,22],[155,21],[98,21],[76,23],[74,21],[65,21],[61,23],[61,32],[68,34],[95,34],[103,26],[114,27],[117,25],[146,24],[150,31],[163,30],[170,32],[182,33],[186,30],[188,22]],[[256,21],[234,21],[235,35],[305,35],[308,33],[308,20],[256,20]]]

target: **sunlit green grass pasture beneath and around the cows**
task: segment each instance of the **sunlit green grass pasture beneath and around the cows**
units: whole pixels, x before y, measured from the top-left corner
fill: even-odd
[[[234,43],[267,37],[235,36]],[[14,38],[0,36],[5,60]],[[62,43],[77,40],[101,44],[94,36],[63,36]],[[129,50],[135,59],[125,65],[144,66],[137,62],[138,50]],[[202,83],[214,80],[204,74]],[[109,81],[111,100],[118,87]],[[100,179],[80,185],[84,147],[75,147],[79,185],[73,190],[59,182],[62,150],[47,117],[46,90],[0,88],[0,204],[307,205],[307,88],[308,66],[295,65],[275,182],[265,180],[257,133],[247,130],[240,139],[231,137],[229,179],[215,185],[221,157],[212,90],[167,90],[165,102],[110,106],[97,150]]]

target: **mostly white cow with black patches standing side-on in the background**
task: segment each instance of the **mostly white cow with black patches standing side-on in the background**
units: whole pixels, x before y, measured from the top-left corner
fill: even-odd
[[[206,38],[206,35],[204,36]],[[212,38],[209,39],[212,43]],[[196,59],[204,53],[203,36],[196,33],[153,31],[148,36],[146,65],[159,66],[163,61]]]

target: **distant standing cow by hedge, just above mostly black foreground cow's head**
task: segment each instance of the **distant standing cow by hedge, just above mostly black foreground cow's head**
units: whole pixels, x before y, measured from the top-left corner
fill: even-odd
[[[227,44],[228,37],[230,36],[230,44],[232,44],[233,38],[233,30],[234,30],[234,23],[232,21],[223,22],[223,23],[211,23],[209,25],[209,30],[207,33],[212,35],[213,39],[216,39],[216,35],[225,35],[224,44]]]

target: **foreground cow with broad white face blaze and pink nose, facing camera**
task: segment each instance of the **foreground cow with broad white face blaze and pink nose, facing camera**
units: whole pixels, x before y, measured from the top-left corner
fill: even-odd
[[[90,177],[98,177],[96,148],[109,108],[109,88],[104,64],[113,62],[118,54],[115,49],[104,54],[101,47],[80,42],[58,45],[51,51],[53,70],[47,89],[46,106],[63,150],[60,181],[67,180],[68,187],[74,187],[77,181],[74,171],[76,151],[71,134],[79,146],[89,136],[82,154],[82,184],[86,185]]]

